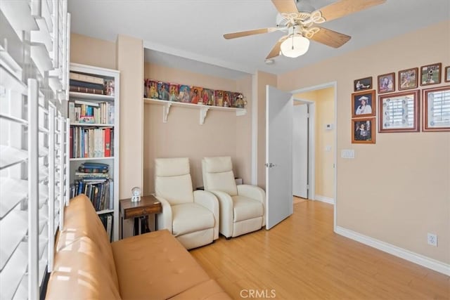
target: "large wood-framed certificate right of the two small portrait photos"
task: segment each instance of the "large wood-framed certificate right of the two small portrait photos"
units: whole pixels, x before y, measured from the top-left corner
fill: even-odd
[[[419,90],[378,96],[380,117],[378,132],[419,131]]]

